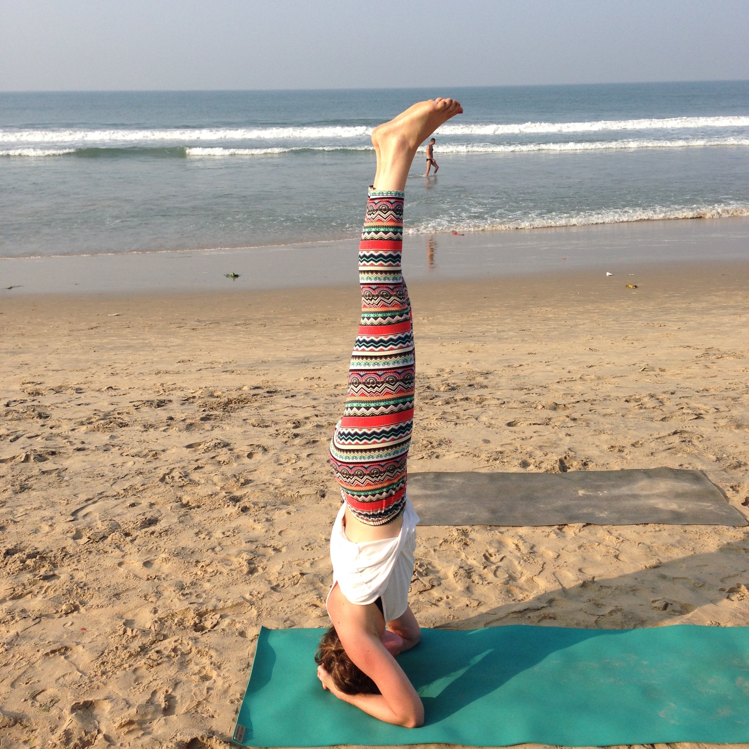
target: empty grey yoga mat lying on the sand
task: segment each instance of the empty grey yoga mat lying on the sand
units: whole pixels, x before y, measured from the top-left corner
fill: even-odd
[[[697,470],[409,473],[419,525],[748,525]]]

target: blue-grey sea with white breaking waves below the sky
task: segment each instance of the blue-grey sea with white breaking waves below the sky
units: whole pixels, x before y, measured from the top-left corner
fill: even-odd
[[[0,257],[357,237],[372,128],[436,95],[410,234],[749,216],[749,82],[6,93]]]

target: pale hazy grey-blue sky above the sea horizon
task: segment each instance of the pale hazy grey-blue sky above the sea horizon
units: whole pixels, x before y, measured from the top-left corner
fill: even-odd
[[[747,0],[0,0],[0,90],[749,79]]]

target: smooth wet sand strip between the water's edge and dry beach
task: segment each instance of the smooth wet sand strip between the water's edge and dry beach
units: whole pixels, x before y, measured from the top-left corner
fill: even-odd
[[[407,234],[408,282],[646,271],[749,258],[749,218]],[[357,284],[358,240],[241,249],[0,258],[0,298],[25,294],[265,291]],[[226,277],[237,273],[236,279]],[[10,287],[10,288],[9,288]]]

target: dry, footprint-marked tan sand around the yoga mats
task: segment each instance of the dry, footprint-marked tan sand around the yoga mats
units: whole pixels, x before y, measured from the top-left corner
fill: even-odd
[[[632,272],[413,285],[410,470],[694,468],[749,514],[749,264]],[[228,745],[259,625],[328,624],[357,303],[1,299],[3,748]],[[749,623],[743,528],[417,535],[427,627]]]

